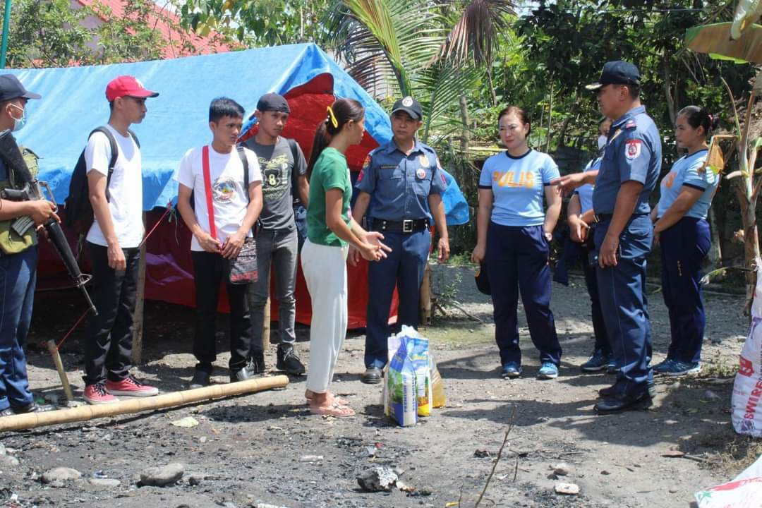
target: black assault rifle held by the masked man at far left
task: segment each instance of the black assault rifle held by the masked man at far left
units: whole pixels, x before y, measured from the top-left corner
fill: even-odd
[[[42,188],[44,188],[50,195],[50,200],[53,201],[54,205],[56,204],[47,182],[39,181],[36,177],[32,176],[27,163],[24,161],[24,157],[21,156],[21,151],[18,149],[16,140],[11,136],[10,129],[5,129],[0,133],[0,157],[5,162],[8,173],[13,174],[19,180],[19,183],[24,186],[21,189],[3,189],[0,191],[0,197],[10,201],[44,200],[45,196],[42,193]],[[55,211],[58,211],[57,205]],[[23,235],[31,227],[34,227],[34,221],[30,217],[15,219],[11,225],[11,228],[19,235]],[[97,316],[98,310],[93,305],[88,290],[85,288],[85,284],[90,281],[91,276],[79,270],[79,265],[72,253],[72,249],[69,247],[69,242],[66,241],[66,236],[63,234],[61,225],[56,219],[51,217],[43,224],[43,227],[46,229],[48,240],[53,244],[64,266],[66,266],[66,270],[69,271],[69,276],[72,277],[74,285],[85,296],[85,300],[87,300],[90,306],[90,312],[92,315]]]

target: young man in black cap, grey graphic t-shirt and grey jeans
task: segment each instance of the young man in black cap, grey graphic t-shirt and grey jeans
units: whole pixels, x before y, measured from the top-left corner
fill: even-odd
[[[296,356],[296,257],[299,240],[294,221],[294,198],[307,206],[309,184],[307,162],[302,149],[293,139],[280,136],[286,127],[290,107],[278,94],[264,94],[257,103],[254,116],[258,131],[243,144],[257,154],[262,171],[264,204],[256,235],[258,280],[249,285],[248,302],[251,315],[252,374],[264,372],[262,327],[264,306],[270,296],[270,267],[275,264],[275,295],[278,299],[280,343],[276,368],[291,375],[302,375],[304,365]]]

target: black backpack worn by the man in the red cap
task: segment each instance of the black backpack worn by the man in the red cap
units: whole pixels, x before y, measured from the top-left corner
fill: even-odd
[[[133,136],[135,144],[140,148],[140,142],[137,136],[132,130],[127,129],[130,136]],[[114,139],[114,135],[106,127],[98,127],[93,129],[88,136],[88,141],[94,133],[104,133],[108,139],[108,143],[111,149],[111,159],[108,162],[108,174],[106,177],[106,200],[110,200],[110,194],[108,192],[108,186],[111,183],[111,174],[114,173],[114,165],[117,164],[117,158],[119,157],[119,145],[117,140]],[[93,223],[93,206],[90,203],[90,187],[88,185],[87,165],[85,163],[85,149],[82,149],[82,153],[79,155],[77,165],[74,167],[72,173],[72,181],[69,182],[69,196],[64,202],[66,206],[66,220],[64,225],[71,229],[73,232],[77,232],[80,235],[87,235],[90,230],[90,226]]]

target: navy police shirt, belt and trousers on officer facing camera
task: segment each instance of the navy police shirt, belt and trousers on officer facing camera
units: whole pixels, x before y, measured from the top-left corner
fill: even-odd
[[[368,227],[381,232],[392,249],[386,259],[368,265],[364,361],[367,368],[381,369],[388,356],[395,285],[397,323],[418,326],[418,296],[431,248],[429,225],[434,223],[428,197],[443,193],[447,184],[434,149],[416,140],[412,152],[405,154],[392,139],[370,152],[355,187],[370,194]]]

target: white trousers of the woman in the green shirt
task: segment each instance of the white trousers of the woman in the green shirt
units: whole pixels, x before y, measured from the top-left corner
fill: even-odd
[[[302,271],[312,299],[307,389],[325,393],[347,336],[347,247],[313,244],[302,248]]]

